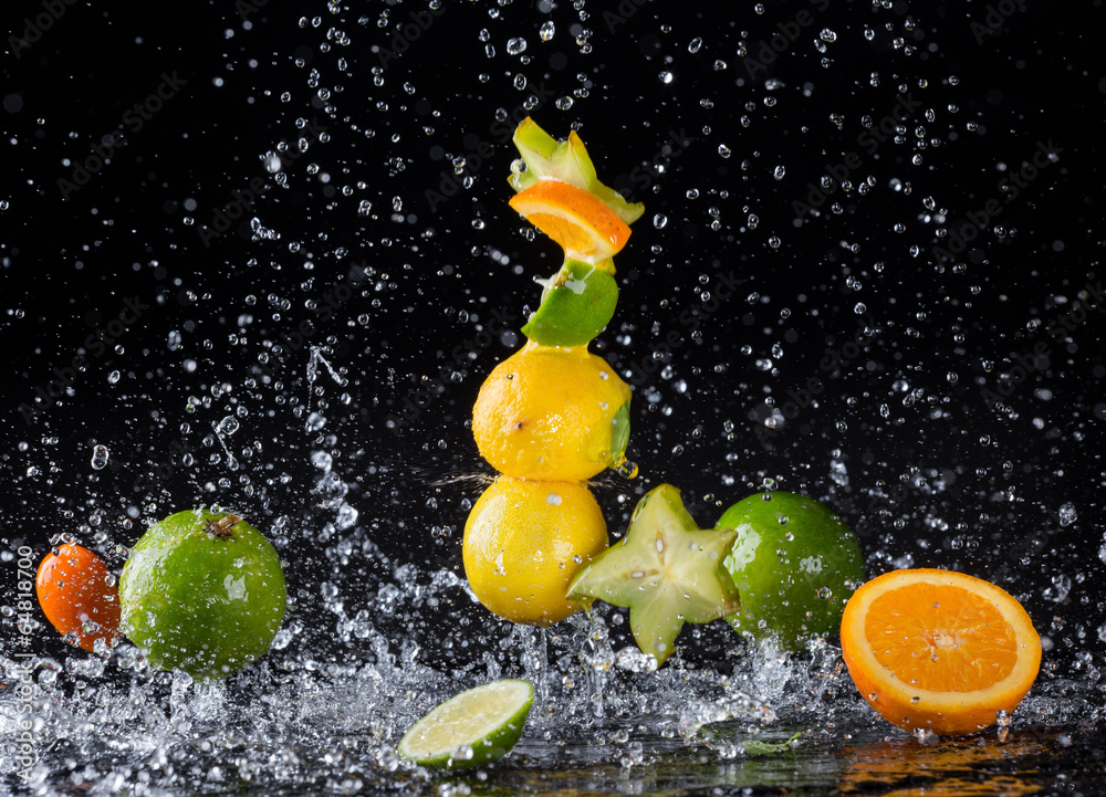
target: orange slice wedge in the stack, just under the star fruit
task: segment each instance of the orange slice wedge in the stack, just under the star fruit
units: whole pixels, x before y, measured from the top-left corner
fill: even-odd
[[[617,254],[629,238],[629,226],[606,202],[553,178],[515,193],[510,205],[575,260],[598,263]]]

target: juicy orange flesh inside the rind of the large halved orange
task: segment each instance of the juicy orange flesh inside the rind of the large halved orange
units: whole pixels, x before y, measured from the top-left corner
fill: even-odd
[[[975,692],[1018,662],[1013,629],[983,598],[947,585],[912,584],[875,600],[864,635],[902,683],[932,692]]]

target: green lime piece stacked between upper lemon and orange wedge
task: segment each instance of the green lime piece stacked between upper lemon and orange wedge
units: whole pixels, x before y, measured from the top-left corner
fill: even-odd
[[[615,314],[618,285],[605,270],[566,260],[522,333],[542,346],[585,346]]]

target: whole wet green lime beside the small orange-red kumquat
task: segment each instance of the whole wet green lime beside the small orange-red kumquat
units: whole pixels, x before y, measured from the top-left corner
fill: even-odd
[[[123,628],[158,669],[221,678],[269,650],[286,607],[280,557],[227,512],[155,523],[119,578]]]

